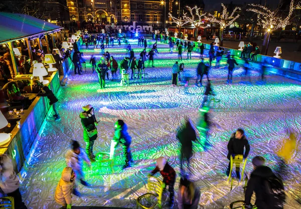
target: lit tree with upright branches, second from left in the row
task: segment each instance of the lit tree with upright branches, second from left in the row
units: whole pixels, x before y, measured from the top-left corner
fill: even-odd
[[[186,8],[189,11],[189,15],[187,15],[187,13],[184,13],[183,19],[185,20],[185,22],[191,23],[196,28],[196,36],[198,36],[199,28],[206,28],[206,27],[204,27],[204,24],[202,22],[202,19],[205,17],[206,14],[202,14],[202,12],[200,11],[201,8],[198,8],[197,6],[195,6],[193,8],[186,6]],[[198,19],[195,17],[195,15],[193,13],[194,10],[195,10],[195,14],[198,17]]]

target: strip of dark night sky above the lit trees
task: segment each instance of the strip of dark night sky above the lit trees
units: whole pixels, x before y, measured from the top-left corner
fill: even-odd
[[[192,0],[189,0],[192,1]],[[205,11],[208,10],[219,10],[221,3],[224,4],[230,4],[230,2],[233,2],[233,4],[259,4],[260,0],[203,0],[205,4]],[[270,5],[272,7],[276,7],[279,3],[279,0],[261,0],[262,4],[264,4],[266,1],[266,5]]]

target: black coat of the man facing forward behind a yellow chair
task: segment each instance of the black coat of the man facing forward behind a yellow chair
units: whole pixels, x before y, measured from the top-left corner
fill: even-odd
[[[250,145],[246,138],[246,136],[243,136],[241,139],[235,138],[235,133],[231,135],[231,138],[228,142],[228,155],[227,158],[230,159],[231,154],[242,154],[244,158],[246,158],[250,151]],[[244,147],[246,148],[245,153]]]

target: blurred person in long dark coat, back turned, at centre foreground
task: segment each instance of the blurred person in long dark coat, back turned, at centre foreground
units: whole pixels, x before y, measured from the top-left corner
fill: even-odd
[[[190,158],[192,157],[192,142],[197,140],[196,131],[191,124],[189,118],[185,118],[182,121],[181,127],[178,129],[177,139],[181,143],[181,154],[180,154],[180,172],[184,174],[183,162],[184,159],[187,161],[187,167],[190,170]]]

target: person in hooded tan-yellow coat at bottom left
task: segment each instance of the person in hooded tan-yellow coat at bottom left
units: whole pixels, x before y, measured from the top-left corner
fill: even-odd
[[[75,186],[75,173],[72,167],[65,167],[62,172],[62,178],[60,179],[54,194],[54,199],[58,204],[67,206],[67,209],[71,209],[73,189]]]

